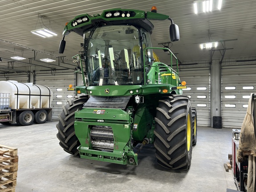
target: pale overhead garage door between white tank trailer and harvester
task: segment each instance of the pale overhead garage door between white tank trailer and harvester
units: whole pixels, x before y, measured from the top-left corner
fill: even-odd
[[[76,85],[74,72],[56,74],[36,74],[36,84],[42,84],[52,89],[52,119],[58,119],[62,106],[75,96],[75,91],[67,91],[68,85]]]

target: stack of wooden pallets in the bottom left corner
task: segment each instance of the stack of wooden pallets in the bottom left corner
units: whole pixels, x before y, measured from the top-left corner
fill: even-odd
[[[0,192],[15,192],[18,149],[0,144]]]

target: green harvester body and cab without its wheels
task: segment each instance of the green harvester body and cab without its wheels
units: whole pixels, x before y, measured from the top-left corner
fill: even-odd
[[[113,16],[117,12],[120,15]],[[111,16],[109,16],[110,14]],[[145,45],[143,44],[146,37],[150,36],[152,32],[153,25],[149,20],[168,20],[168,18],[169,16],[156,12],[116,8],[104,10],[101,15],[76,16],[64,28],[64,36],[72,31],[84,36],[84,54],[73,57],[80,64],[77,72],[82,74],[83,79],[83,85],[76,86],[76,93],[88,95],[89,98],[83,108],[75,112],[75,135],[80,142],[78,151],[81,158],[137,165],[137,152],[140,150],[135,148],[136,144],[154,143],[154,118],[158,101],[163,96],[181,95],[182,88],[186,88],[181,85],[178,72],[172,69],[173,64],[178,69],[176,56],[168,48],[152,47],[150,38],[147,39]],[[102,31],[96,34],[96,30],[99,27],[104,29],[105,26],[115,25],[124,26],[124,28],[120,28],[120,33],[125,30],[127,35],[136,34],[136,28],[138,29],[139,38],[135,39],[140,46],[140,55],[135,56],[131,53],[131,49],[124,49],[126,62],[123,65],[126,66],[126,74],[130,78],[126,83],[119,83],[120,76],[115,75],[119,72],[115,63],[115,60],[118,59],[112,50],[114,49],[115,52],[115,46],[116,49],[118,46],[110,45],[111,42],[115,43],[114,40],[105,40],[105,48],[98,46],[92,51],[93,54],[89,53],[91,47],[100,44],[101,39],[104,40],[104,36],[107,36]],[[127,26],[131,29],[127,29]],[[116,31],[118,29],[114,27],[113,32]],[[96,37],[97,41],[94,40]],[[122,44],[124,40],[119,41]],[[168,52],[170,63],[167,65],[154,60],[153,49],[163,49]],[[151,55],[148,52],[151,52]],[[102,58],[100,58],[100,54]],[[108,62],[107,83],[104,83],[105,72],[100,70],[104,70],[103,66],[106,62],[104,59],[107,58],[107,55],[110,57],[110,61]],[[132,57],[141,60],[139,67],[136,68],[136,62],[132,61]],[[99,74],[98,79],[92,80],[97,73]],[[132,77],[134,73],[140,74]]]

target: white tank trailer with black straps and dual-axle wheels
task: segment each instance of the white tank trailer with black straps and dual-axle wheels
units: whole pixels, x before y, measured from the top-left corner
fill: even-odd
[[[44,85],[0,81],[0,124],[52,121],[52,90]]]

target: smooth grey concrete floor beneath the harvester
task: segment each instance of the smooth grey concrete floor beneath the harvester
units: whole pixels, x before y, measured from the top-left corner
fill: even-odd
[[[57,121],[30,126],[0,124],[0,144],[18,148],[16,192],[226,192],[236,189],[232,170],[232,129],[198,127],[188,171],[159,166],[153,145],[139,153],[138,166],[73,157],[56,138]]]

